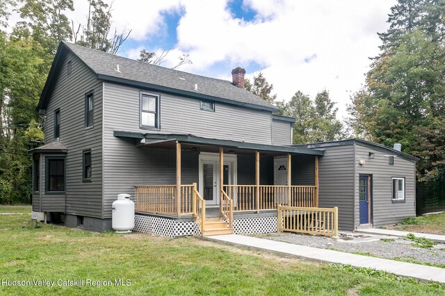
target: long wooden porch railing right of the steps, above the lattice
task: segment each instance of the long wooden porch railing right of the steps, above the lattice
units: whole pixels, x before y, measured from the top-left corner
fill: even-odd
[[[234,201],[234,211],[273,210],[277,209],[277,204],[293,207],[318,206],[316,186],[224,185],[223,190]]]

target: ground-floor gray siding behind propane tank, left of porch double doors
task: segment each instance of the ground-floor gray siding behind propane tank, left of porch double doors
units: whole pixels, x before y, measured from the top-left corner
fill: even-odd
[[[175,148],[136,147],[132,139],[114,137],[113,132],[106,133],[104,145],[104,218],[111,218],[119,193],[136,202],[136,185],[176,184]],[[181,152],[181,184],[198,182],[198,157],[195,151]]]

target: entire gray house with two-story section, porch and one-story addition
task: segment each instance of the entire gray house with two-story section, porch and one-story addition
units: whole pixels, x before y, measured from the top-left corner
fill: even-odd
[[[245,90],[244,74],[238,67],[232,81],[218,80],[61,42],[37,107],[45,140],[32,150],[33,211],[102,231],[112,202],[129,193],[137,231],[261,233],[277,231],[277,204],[319,199],[339,207],[340,228],[355,229],[363,174],[373,189],[369,222],[414,216],[412,157],[373,143],[360,152],[357,140],[291,146],[295,120]],[[381,153],[407,171],[360,171]],[[400,200],[391,200],[392,177],[404,178]]]

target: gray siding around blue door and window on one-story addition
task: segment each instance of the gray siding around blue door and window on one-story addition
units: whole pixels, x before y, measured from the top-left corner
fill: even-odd
[[[374,158],[369,157],[374,153]],[[414,162],[394,157],[394,166],[388,164],[391,155],[387,150],[376,150],[355,145],[355,226],[359,225],[359,175],[372,175],[372,217],[374,227],[389,225],[416,216],[415,168]],[[359,160],[366,164],[359,165]],[[392,202],[392,177],[405,178],[405,202]]]

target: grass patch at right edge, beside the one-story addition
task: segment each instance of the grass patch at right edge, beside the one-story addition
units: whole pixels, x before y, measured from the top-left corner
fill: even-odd
[[[396,226],[388,227],[405,232],[421,232],[445,235],[445,212],[441,214],[406,218]]]

